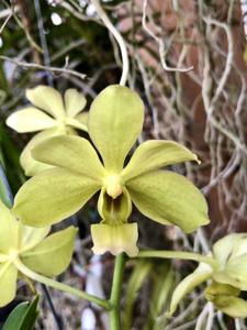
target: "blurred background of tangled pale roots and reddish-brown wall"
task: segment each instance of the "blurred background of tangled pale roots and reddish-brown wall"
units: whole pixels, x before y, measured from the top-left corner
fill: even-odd
[[[127,84],[146,106],[139,141],[173,140],[197,153],[200,166],[187,163],[172,169],[203,191],[210,208],[211,224],[187,237],[134,210],[139,248],[206,253],[215,240],[247,229],[247,1],[105,0],[101,6],[125,40]],[[19,156],[31,134],[18,134],[4,121],[27,105],[25,89],[40,84],[61,92],[77,88],[89,109],[99,91],[119,82],[121,68],[119,46],[89,0],[0,0],[0,161],[13,194],[26,179]],[[99,220],[96,201],[72,219],[80,239],[60,279],[108,295],[113,258],[92,256],[90,250],[90,223]],[[123,329],[246,329],[244,321],[236,326],[205,309],[203,287],[167,319],[170,292],[194,266],[177,261],[171,271],[168,262],[131,261]],[[30,293],[20,286],[19,299],[26,299]],[[50,295],[61,321],[44,295],[36,329],[108,329],[100,309],[57,292]],[[1,311],[1,321],[9,309]]]

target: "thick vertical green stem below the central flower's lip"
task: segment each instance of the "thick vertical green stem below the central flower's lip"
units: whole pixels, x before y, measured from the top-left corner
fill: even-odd
[[[110,310],[110,328],[111,330],[120,330],[121,329],[121,292],[122,292],[122,283],[124,275],[124,266],[125,266],[126,257],[124,253],[121,253],[115,258],[115,266],[113,273],[113,282],[112,282],[112,290],[110,297],[110,305],[112,309]]]

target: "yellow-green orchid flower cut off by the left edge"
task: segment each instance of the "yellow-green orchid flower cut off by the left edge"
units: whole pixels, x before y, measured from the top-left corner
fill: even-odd
[[[0,201],[0,307],[14,299],[18,276],[56,276],[71,258],[77,230],[74,227],[46,238],[49,227],[22,224]],[[38,273],[38,274],[36,274]],[[35,275],[36,274],[36,275]]]

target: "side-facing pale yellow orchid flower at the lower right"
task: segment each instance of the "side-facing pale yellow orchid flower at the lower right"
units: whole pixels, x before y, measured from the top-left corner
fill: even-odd
[[[186,295],[210,280],[205,289],[209,301],[231,317],[247,317],[247,301],[239,297],[242,292],[247,292],[247,234],[234,233],[218,240],[213,246],[212,257],[215,260],[214,267],[201,263],[176,287],[170,315]]]

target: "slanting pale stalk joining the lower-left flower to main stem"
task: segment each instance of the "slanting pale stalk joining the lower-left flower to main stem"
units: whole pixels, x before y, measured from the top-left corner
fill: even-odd
[[[77,296],[81,299],[86,299],[86,300],[89,300],[93,304],[97,304],[99,306],[101,306],[102,308],[106,309],[106,310],[110,310],[111,309],[111,306],[109,304],[108,300],[105,299],[101,299],[101,298],[98,298],[93,295],[89,295],[82,290],[79,290],[77,288],[74,288],[74,287],[70,287],[69,285],[66,285],[64,283],[60,283],[60,282],[56,282],[52,278],[48,278],[44,275],[40,275],[33,271],[31,271],[30,268],[27,268],[22,262],[20,258],[15,258],[13,261],[14,265],[16,266],[16,268],[24,275],[26,275],[29,278],[32,278],[36,282],[40,282],[40,283],[43,283],[49,287],[53,287],[53,288],[56,288],[58,290],[61,290],[61,292],[65,292],[65,293],[69,293],[74,296]]]

